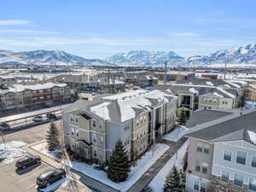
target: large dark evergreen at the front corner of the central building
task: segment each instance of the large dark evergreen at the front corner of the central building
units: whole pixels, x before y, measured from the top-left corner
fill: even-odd
[[[131,171],[130,168],[129,156],[125,151],[123,143],[119,140],[115,144],[113,154],[109,160],[108,178],[115,183],[124,182]]]

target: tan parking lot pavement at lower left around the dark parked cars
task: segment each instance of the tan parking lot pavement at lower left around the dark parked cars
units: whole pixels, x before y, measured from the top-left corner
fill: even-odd
[[[60,120],[55,121],[55,124],[59,126]],[[44,125],[37,125],[25,130],[15,131],[5,136],[6,143],[13,141],[25,142],[27,144],[36,143],[42,141],[45,138],[46,132],[49,129],[49,123]],[[2,143],[2,141],[0,142]],[[52,169],[52,166],[42,162],[37,166],[31,166],[25,171],[16,172],[15,161],[11,163],[0,163],[0,191],[3,192],[35,192],[37,191],[36,178],[41,172],[45,172]],[[79,177],[78,177],[79,180]],[[65,183],[56,192],[70,191],[70,185]],[[87,192],[87,187],[84,184],[77,183],[76,192]]]

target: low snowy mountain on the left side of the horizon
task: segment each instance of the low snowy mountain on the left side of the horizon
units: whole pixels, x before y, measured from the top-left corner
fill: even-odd
[[[100,59],[84,59],[81,56],[68,54],[61,50],[32,50],[13,52],[0,50],[0,64],[32,65],[113,65]]]

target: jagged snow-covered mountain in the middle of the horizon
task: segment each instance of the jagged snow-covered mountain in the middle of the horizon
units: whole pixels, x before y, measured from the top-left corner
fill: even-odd
[[[173,51],[131,50],[128,53],[118,53],[107,59],[118,65],[129,66],[162,66],[165,61],[183,60],[183,57]]]

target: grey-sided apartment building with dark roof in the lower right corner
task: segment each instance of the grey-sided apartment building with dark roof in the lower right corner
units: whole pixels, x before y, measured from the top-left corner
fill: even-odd
[[[189,130],[187,191],[256,190],[256,112],[243,113]]]

